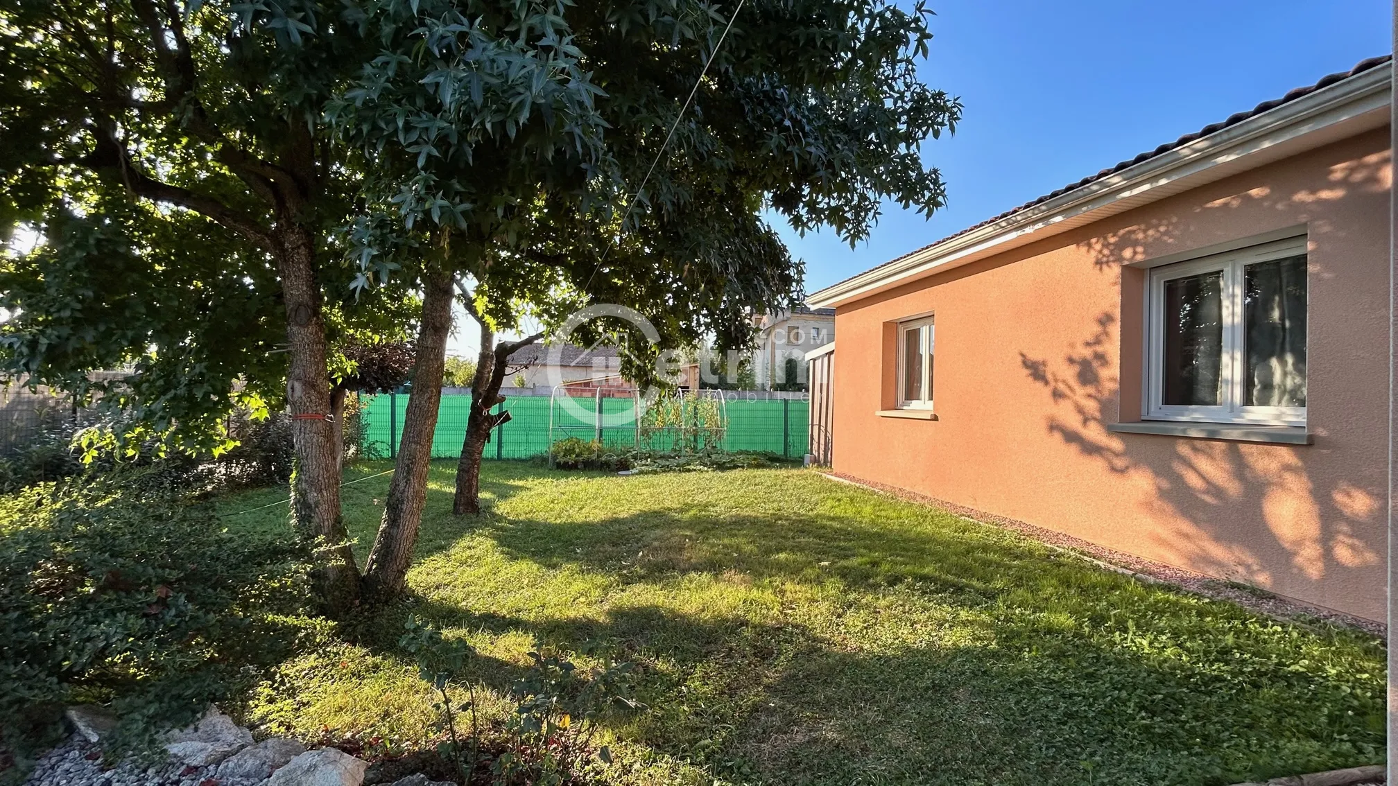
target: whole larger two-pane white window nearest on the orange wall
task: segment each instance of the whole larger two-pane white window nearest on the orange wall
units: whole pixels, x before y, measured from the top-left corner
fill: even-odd
[[[1151,270],[1146,417],[1306,425],[1306,238]]]

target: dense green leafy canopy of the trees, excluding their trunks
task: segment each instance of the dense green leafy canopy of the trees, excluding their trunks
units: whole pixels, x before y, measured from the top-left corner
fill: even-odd
[[[154,424],[215,422],[235,376],[275,406],[291,241],[333,334],[401,338],[449,269],[496,327],[614,302],[664,348],[741,343],[801,296],[765,217],[854,243],[934,211],[960,103],[917,80],[923,3],[734,8],[0,0],[0,227],[46,239],[0,262],[0,365],[130,364]]]

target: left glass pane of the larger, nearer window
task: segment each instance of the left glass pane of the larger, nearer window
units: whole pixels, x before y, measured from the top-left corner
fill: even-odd
[[[1162,403],[1218,406],[1223,375],[1223,273],[1165,283]]]

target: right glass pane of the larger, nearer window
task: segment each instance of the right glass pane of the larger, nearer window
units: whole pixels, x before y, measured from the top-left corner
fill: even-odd
[[[1243,406],[1306,406],[1306,256],[1248,264],[1243,274],[1247,386]]]

